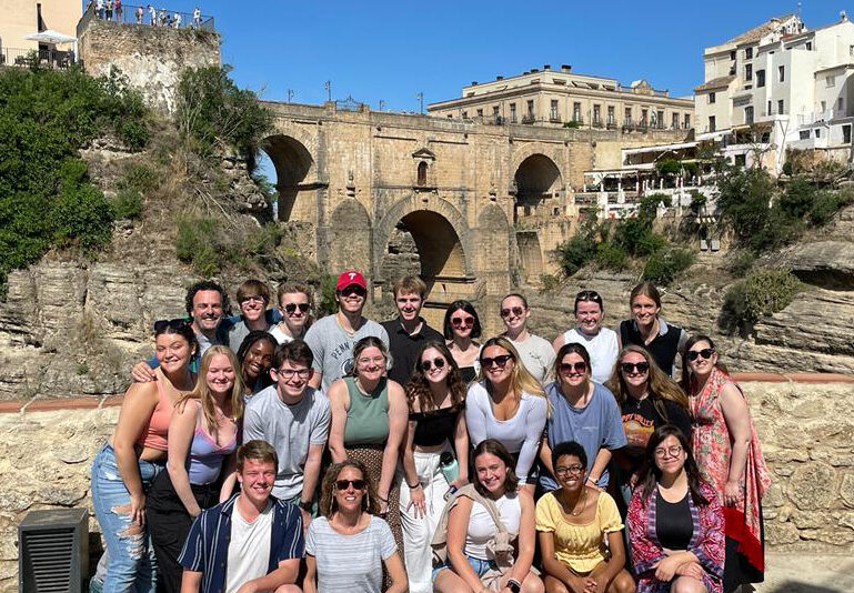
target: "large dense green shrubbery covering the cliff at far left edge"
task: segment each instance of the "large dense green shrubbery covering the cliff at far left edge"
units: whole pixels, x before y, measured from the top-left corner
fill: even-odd
[[[0,73],[0,285],[52,247],[92,251],[109,242],[110,205],[78,151],[110,133],[131,149],[148,141],[142,100],[118,72]]]

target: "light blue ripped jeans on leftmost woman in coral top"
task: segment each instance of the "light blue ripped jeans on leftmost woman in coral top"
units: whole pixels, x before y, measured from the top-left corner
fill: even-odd
[[[164,468],[165,460],[139,460],[145,493]],[[92,462],[91,480],[92,506],[103,531],[108,555],[103,592],[152,593],[157,583],[154,550],[148,530],[131,525],[129,512],[121,509],[129,509],[130,493],[121,479],[115,453],[109,443],[101,448]]]

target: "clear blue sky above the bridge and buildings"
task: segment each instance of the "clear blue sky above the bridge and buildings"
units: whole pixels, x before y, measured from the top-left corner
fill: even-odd
[[[132,0],[131,0],[132,1]],[[157,4],[158,7],[160,3]],[[172,10],[194,3],[172,0]],[[712,0],[637,2],[579,0],[504,2],[299,0],[199,1],[223,34],[222,59],[241,87],[263,98],[321,102],[352,96],[378,109],[418,111],[459,97],[473,80],[512,76],[550,63],[629,83],[690,94],[702,82],[704,47],[776,14],[796,1]],[[802,0],[802,18],[815,28],[854,7]]]

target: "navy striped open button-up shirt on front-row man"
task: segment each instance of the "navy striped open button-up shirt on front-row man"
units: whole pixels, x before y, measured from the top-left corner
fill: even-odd
[[[195,517],[178,562],[187,570],[202,573],[200,593],[223,593],[231,541],[231,511],[240,494],[202,511]],[[273,525],[270,541],[268,574],[284,560],[300,559],[305,541],[302,515],[294,505],[270,496],[273,503]]]

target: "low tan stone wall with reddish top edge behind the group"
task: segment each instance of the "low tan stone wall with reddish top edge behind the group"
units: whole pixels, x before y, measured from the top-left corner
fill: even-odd
[[[854,554],[854,378],[739,375],[773,483],[763,501],[771,553]],[[91,513],[89,465],[121,398],[0,403],[0,593],[17,590],[17,526],[28,511]],[[100,551],[92,515],[92,563]]]

